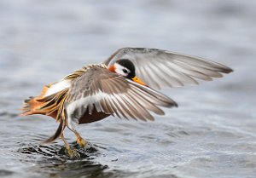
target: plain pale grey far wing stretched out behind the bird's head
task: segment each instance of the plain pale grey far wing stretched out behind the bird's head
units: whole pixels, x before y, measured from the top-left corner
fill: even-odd
[[[221,73],[232,72],[229,67],[211,60],[160,49],[119,49],[104,64],[110,66],[120,59],[131,60],[137,77],[153,89],[198,84],[195,78],[210,81],[221,78]]]

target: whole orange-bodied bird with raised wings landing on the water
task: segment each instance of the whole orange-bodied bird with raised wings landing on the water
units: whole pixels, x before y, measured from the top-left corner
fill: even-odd
[[[24,100],[21,116],[43,114],[59,123],[55,134],[45,140],[60,138],[67,153],[76,155],[63,134],[67,127],[76,135],[79,146],[87,141],[79,135],[78,124],[92,123],[109,116],[154,120],[164,115],[162,107],[177,107],[160,89],[211,81],[233,70],[212,60],[151,48],[122,48],[99,64],[83,66],[45,85],[41,94]]]

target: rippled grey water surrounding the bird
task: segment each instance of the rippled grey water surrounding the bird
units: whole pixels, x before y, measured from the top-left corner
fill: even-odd
[[[256,177],[256,1],[0,1],[0,177]],[[57,123],[19,116],[22,100],[122,47],[195,55],[235,72],[164,89],[179,104],[154,122],[79,125],[85,149]]]

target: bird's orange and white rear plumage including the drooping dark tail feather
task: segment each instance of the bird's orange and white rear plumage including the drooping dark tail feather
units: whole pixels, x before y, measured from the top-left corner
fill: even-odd
[[[58,83],[46,85],[44,86],[41,95],[29,97],[24,100],[20,114],[21,116],[43,114],[55,118],[57,122],[60,122],[55,134],[43,141],[43,144],[55,141],[60,137],[66,127],[67,115],[64,105],[65,100],[67,100],[68,89],[72,79],[71,77]]]

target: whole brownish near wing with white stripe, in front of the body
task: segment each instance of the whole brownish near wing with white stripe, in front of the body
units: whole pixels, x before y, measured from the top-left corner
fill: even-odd
[[[84,112],[94,110],[119,118],[153,120],[149,111],[163,115],[159,106],[177,106],[166,95],[97,66],[73,81],[66,104],[67,117],[77,122]]]

